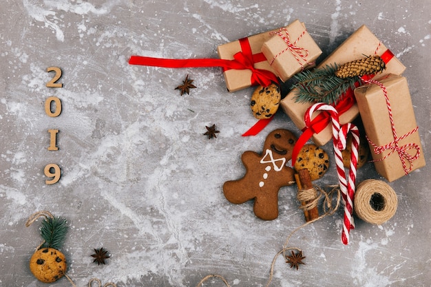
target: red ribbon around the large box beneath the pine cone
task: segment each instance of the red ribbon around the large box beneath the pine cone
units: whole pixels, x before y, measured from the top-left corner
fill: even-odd
[[[376,50],[377,53],[377,50]],[[381,59],[385,64],[387,64],[393,57],[394,54],[388,49],[381,56]],[[369,81],[374,75],[365,75],[361,77],[361,81]],[[355,83],[355,87],[359,87],[361,83]],[[353,89],[348,89],[344,96],[340,97],[341,100],[335,105],[335,109],[337,109],[338,114],[344,114],[344,112],[348,111],[350,107],[356,103],[355,95],[353,94]],[[293,147],[292,151],[292,166],[295,165],[296,158],[301,151],[302,147],[308,142],[308,140],[313,136],[313,134],[319,134],[320,131],[323,131],[325,127],[330,123],[330,114],[326,111],[323,111],[318,116],[316,116],[313,120],[309,118],[307,114],[304,115],[305,127],[302,129],[303,133],[299,136],[295,147]]]

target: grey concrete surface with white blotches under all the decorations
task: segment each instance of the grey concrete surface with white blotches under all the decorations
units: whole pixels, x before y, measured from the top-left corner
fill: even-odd
[[[430,273],[430,38],[428,0],[416,1],[3,1],[0,17],[0,286],[70,286],[36,281],[28,267],[41,242],[48,210],[66,217],[63,252],[76,286],[92,277],[117,286],[196,286],[220,274],[231,286],[265,286],[274,255],[304,223],[296,188],[280,190],[280,215],[264,222],[252,203],[233,205],[222,184],[240,178],[246,150],[262,151],[269,131],[299,135],[279,111],[255,137],[253,88],[228,93],[219,68],[137,67],[129,56],[217,58],[218,45],[287,25],[306,23],[322,61],[366,24],[406,65],[428,166],[390,186],[397,213],[382,225],[356,220],[351,243],[340,242],[342,212],[303,228],[290,245],[306,265],[282,258],[271,286],[429,286]],[[62,88],[48,88],[47,67],[61,67]],[[197,89],[179,95],[185,76]],[[288,86],[287,86],[288,87]],[[62,113],[45,114],[48,96]],[[202,134],[215,124],[217,138]],[[59,129],[48,151],[48,129]],[[332,153],[330,143],[324,146]],[[45,184],[43,169],[63,176]],[[358,181],[382,179],[372,164]],[[337,182],[335,165],[316,182]],[[93,248],[111,254],[92,263]],[[223,286],[209,280],[205,286]]]

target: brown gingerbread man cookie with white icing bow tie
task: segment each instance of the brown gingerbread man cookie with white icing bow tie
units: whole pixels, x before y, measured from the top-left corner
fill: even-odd
[[[286,167],[292,158],[297,138],[286,129],[275,129],[265,140],[262,154],[242,153],[246,173],[239,180],[224,182],[224,196],[234,204],[255,200],[254,213],[262,220],[278,216],[278,191],[295,182],[293,169]]]

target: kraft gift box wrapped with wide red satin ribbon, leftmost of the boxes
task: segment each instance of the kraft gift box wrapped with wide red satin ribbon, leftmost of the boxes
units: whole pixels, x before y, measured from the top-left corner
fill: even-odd
[[[253,36],[248,36],[237,41],[220,45],[217,47],[218,56],[220,59],[234,60],[235,56],[240,52],[244,56],[245,61],[251,63],[255,69],[271,72],[271,74],[273,74],[273,78],[277,80],[275,70],[271,65],[269,65],[268,61],[266,61],[261,50],[263,43],[269,40],[273,33],[278,30],[279,29],[255,34]],[[253,71],[250,69],[224,68],[223,74],[229,92],[235,92],[239,89],[260,84],[255,81]]]

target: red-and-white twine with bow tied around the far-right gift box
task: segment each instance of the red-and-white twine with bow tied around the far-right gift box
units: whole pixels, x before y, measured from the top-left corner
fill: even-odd
[[[401,164],[403,164],[404,173],[406,175],[408,175],[408,173],[410,171],[412,171],[412,169],[413,169],[413,161],[417,160],[419,158],[419,156],[421,156],[421,148],[419,147],[419,145],[417,145],[414,142],[409,142],[408,144],[403,145],[403,146],[400,147],[399,142],[401,140],[403,140],[404,138],[407,138],[411,134],[414,134],[415,132],[417,132],[418,129],[419,129],[419,127],[415,127],[414,129],[412,129],[411,131],[409,131],[407,134],[404,134],[403,136],[398,137],[398,135],[397,135],[397,129],[395,129],[394,118],[392,116],[392,107],[390,107],[390,101],[389,101],[389,97],[388,97],[388,92],[386,90],[385,85],[383,85],[379,81],[375,81],[375,80],[368,80],[368,81],[365,80],[364,82],[365,83],[369,83],[369,84],[378,85],[381,88],[381,90],[383,92],[383,96],[385,96],[386,107],[388,107],[389,120],[390,120],[390,125],[392,127],[392,135],[394,136],[394,140],[392,140],[392,142],[389,142],[388,144],[381,145],[381,146],[375,145],[375,143],[372,142],[367,137],[367,140],[368,140],[368,142],[370,142],[370,145],[372,145],[372,147],[374,147],[374,152],[376,154],[383,153],[383,151],[386,151],[386,150],[391,150],[383,158],[381,158],[379,160],[373,160],[373,161],[385,160],[386,158],[388,158],[388,156],[390,156],[392,153],[394,153],[395,151],[397,151],[399,159],[401,160]],[[408,150],[410,150],[410,149],[416,149],[416,153],[414,153],[414,155],[411,155],[410,153],[408,153]],[[409,162],[410,167],[407,167],[406,161]]]

